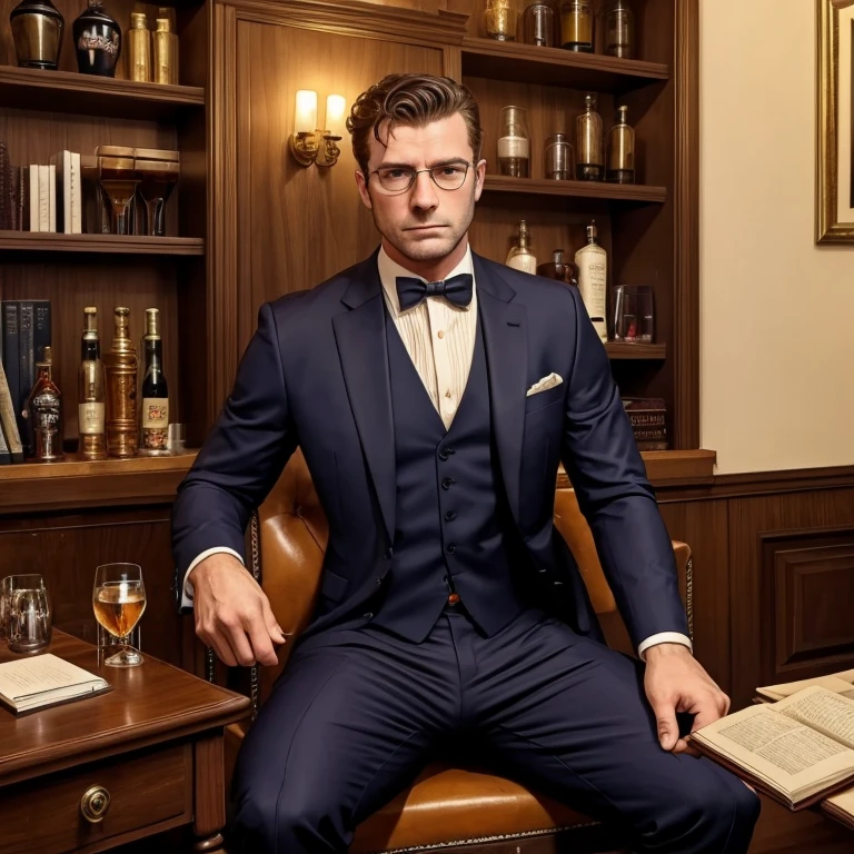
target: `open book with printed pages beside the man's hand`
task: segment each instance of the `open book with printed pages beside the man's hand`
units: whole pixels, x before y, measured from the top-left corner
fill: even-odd
[[[854,774],[854,751],[779,714],[776,705],[751,706],[727,715],[692,738],[793,803]]]

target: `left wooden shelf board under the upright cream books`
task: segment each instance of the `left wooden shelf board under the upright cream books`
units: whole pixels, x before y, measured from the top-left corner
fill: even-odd
[[[205,255],[200,237],[137,237],[125,235],[60,235],[0,231],[0,252],[100,252],[108,255]]]

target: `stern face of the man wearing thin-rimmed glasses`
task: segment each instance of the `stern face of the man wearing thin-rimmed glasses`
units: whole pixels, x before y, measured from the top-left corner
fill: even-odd
[[[443,190],[429,172],[420,172],[415,183],[399,195],[389,195],[374,171],[389,166],[430,169],[436,166],[471,163],[474,152],[463,116],[424,127],[397,127],[380,136],[385,145],[370,138],[368,175],[356,172],[365,206],[374,215],[389,256],[416,272],[433,270],[445,259],[455,264],[465,252],[464,239],[475,215],[475,202],[484,186],[486,161],[468,169],[458,190]],[[459,257],[457,257],[459,256]]]

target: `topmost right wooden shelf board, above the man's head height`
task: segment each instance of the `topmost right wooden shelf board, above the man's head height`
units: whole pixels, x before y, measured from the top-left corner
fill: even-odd
[[[625,92],[669,78],[669,69],[661,62],[478,38],[463,39],[463,73],[597,92]]]

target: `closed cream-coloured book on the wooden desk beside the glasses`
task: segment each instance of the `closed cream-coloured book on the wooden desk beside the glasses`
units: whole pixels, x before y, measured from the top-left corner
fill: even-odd
[[[51,653],[0,664],[0,703],[16,715],[108,691],[106,679]]]

